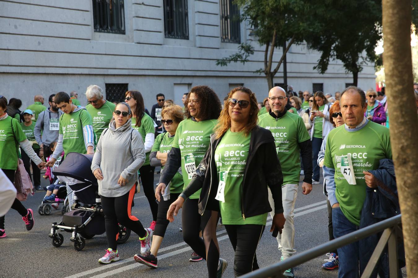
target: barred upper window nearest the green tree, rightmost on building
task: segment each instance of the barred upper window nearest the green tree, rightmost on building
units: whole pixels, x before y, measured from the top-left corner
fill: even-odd
[[[240,8],[232,0],[220,0],[222,43],[241,43]]]

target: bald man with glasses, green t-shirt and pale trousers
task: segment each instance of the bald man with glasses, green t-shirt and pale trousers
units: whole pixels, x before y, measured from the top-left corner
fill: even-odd
[[[306,195],[312,190],[312,147],[311,138],[302,118],[285,108],[288,101],[285,90],[280,87],[272,88],[268,93],[268,101],[271,113],[261,115],[258,118],[258,125],[271,131],[275,139],[277,157],[283,173],[282,196],[286,222],[283,232],[277,236],[277,241],[279,243],[278,248],[282,253],[282,259],[284,260],[296,253],[293,209],[295,208],[301,172],[299,154],[301,153],[302,155],[302,163],[305,170],[302,189],[303,194]],[[270,191],[269,201],[274,212],[274,201]],[[294,277],[293,269],[286,270],[283,275],[285,277]]]

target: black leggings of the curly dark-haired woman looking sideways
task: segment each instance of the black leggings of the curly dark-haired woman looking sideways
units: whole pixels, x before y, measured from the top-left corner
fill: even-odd
[[[199,199],[184,201],[181,211],[183,239],[199,256],[206,260],[209,278],[216,277],[219,262],[219,245],[216,227],[219,220],[217,211],[205,210],[199,214]],[[203,239],[199,237],[202,231]]]

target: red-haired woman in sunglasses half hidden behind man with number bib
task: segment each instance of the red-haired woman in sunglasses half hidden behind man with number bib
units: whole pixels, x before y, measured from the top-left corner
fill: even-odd
[[[341,114],[341,108],[340,108],[340,103],[339,100],[336,100],[331,107],[329,108],[329,115],[331,115],[331,117],[329,117],[329,121],[331,122],[332,125],[334,125],[334,127],[339,127],[341,125],[344,125],[344,120],[342,119],[342,114]],[[318,154],[318,165],[319,167],[322,167],[324,165],[324,157],[325,157],[325,148],[326,148],[326,138],[328,137],[328,134],[325,135],[324,141],[322,141],[322,145],[321,145],[321,151]],[[328,193],[326,192],[326,184],[325,184],[325,179],[324,179],[324,195],[328,196]],[[334,239],[334,234],[333,234],[333,229],[332,229],[332,208],[331,208],[331,204],[329,203],[328,198],[326,198],[326,204],[328,207],[328,236],[329,236],[329,240],[333,240]],[[326,253],[326,256],[328,257],[327,259],[325,259],[325,263],[322,264],[322,268],[331,270],[334,268],[338,267],[338,252],[336,249],[331,250],[330,253]]]

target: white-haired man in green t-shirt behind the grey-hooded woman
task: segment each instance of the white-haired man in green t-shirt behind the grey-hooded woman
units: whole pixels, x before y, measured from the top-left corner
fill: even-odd
[[[103,99],[102,88],[97,85],[90,85],[86,90],[87,111],[92,116],[94,133],[97,141],[105,128],[109,127],[110,120],[113,117],[116,105]]]

